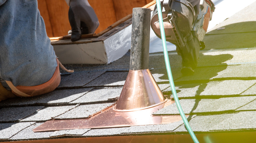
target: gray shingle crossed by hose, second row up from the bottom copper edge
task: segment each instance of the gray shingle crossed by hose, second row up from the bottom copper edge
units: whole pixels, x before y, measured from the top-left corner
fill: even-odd
[[[255,96],[226,97],[219,99],[181,99],[181,107],[185,114],[209,114],[210,112],[235,111],[237,108],[255,100]],[[179,115],[175,103],[153,113],[154,115]]]

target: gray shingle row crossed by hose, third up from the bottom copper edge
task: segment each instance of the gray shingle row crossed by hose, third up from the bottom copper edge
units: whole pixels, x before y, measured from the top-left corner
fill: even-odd
[[[176,84],[179,98],[209,98],[213,96],[253,95],[256,80],[224,80],[208,83]],[[163,90],[171,93],[171,87]],[[200,95],[200,96],[199,96]],[[171,96],[173,97],[173,96]]]

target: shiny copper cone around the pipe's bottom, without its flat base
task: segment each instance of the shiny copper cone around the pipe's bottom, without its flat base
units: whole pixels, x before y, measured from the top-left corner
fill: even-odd
[[[135,111],[165,102],[149,69],[129,71],[115,111]]]

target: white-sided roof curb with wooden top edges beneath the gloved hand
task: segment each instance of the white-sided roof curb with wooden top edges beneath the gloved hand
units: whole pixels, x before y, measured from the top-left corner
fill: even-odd
[[[154,4],[155,1],[152,1],[143,8],[149,8]],[[108,3],[106,7],[112,6],[114,5]],[[113,11],[108,12],[104,14],[108,16]],[[75,42],[70,40],[70,35],[51,38],[51,44],[63,64],[109,64],[131,48],[131,24],[132,14],[129,14],[97,34],[82,35],[81,39]]]

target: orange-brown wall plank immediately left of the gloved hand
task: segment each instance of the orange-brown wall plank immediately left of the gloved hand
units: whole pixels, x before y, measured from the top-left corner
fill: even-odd
[[[64,0],[46,0],[49,17],[53,29],[53,36],[67,35],[71,30],[68,19],[69,6]]]

